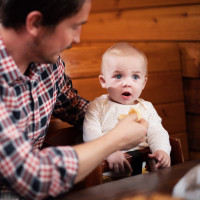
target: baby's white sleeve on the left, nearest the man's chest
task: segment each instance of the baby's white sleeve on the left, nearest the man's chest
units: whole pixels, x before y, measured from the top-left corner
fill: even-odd
[[[83,140],[88,142],[103,135],[101,126],[101,113],[103,103],[100,98],[90,102],[83,122]]]

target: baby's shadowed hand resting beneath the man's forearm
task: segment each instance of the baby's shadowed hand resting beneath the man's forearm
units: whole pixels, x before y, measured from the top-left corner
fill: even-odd
[[[109,168],[118,175],[125,175],[126,170],[132,172],[132,167],[128,160],[125,158],[124,153],[121,151],[116,151],[107,157],[109,163]]]

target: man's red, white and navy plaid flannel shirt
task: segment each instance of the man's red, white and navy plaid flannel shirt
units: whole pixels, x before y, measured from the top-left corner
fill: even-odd
[[[72,147],[40,147],[52,114],[78,125],[88,102],[73,89],[60,58],[54,65],[32,63],[27,72],[0,37],[0,199],[56,196],[72,187],[78,171]]]

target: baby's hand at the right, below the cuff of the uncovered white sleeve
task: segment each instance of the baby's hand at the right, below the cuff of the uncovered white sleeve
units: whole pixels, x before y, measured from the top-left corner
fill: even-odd
[[[157,150],[153,154],[149,154],[148,156],[149,158],[154,158],[156,160],[156,169],[169,167],[171,165],[171,159],[169,155],[162,150]]]

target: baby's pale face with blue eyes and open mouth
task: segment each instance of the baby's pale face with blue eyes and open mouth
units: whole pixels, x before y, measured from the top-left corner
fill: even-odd
[[[107,56],[102,69],[109,98],[120,104],[132,105],[145,87],[146,62],[142,56]]]

